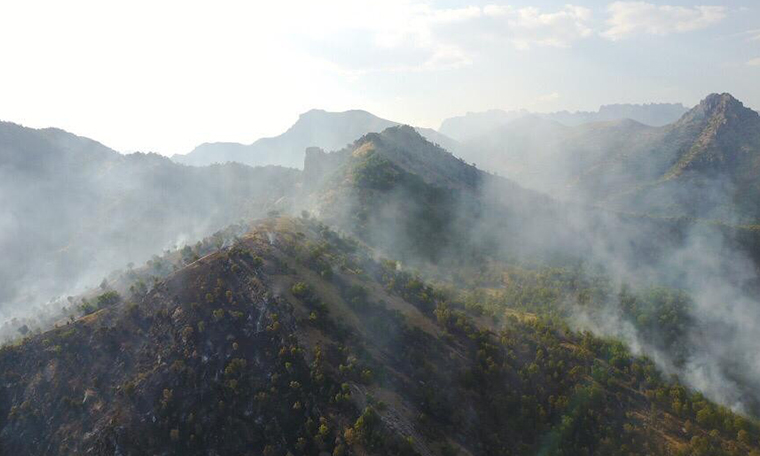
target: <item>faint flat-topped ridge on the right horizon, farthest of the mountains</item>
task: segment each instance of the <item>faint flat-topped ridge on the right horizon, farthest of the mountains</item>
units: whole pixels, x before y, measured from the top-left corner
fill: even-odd
[[[526,110],[469,112],[464,116],[451,117],[441,123],[439,131],[457,141],[468,141],[488,134],[506,124],[525,116],[535,116],[558,122],[565,126],[578,126],[593,122],[611,122],[629,119],[650,126],[663,126],[675,122],[688,109],[680,103],[612,104],[603,105],[599,111],[558,111],[531,113]]]

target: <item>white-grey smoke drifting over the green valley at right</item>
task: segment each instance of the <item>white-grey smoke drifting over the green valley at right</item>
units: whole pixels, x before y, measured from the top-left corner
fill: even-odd
[[[544,177],[555,183],[544,187],[549,190],[567,175],[562,171]],[[710,399],[757,415],[760,275],[753,250],[756,236],[737,227],[749,216],[736,195],[726,176],[688,177],[607,200],[605,207],[635,208],[637,214],[629,214],[598,207],[598,195],[594,199],[574,193],[573,203],[546,210],[529,194],[505,192],[503,184],[483,189],[484,199],[513,208],[512,225],[519,227],[503,233],[499,245],[507,255],[502,257],[518,249],[523,260],[576,258],[592,266],[589,271],[603,271],[612,290],[630,286],[644,292],[664,286],[685,292],[689,302],[678,347],[658,343],[668,335],[635,324],[615,293],[593,307],[573,304],[569,320],[576,329],[625,341],[634,353],[648,356]],[[696,216],[704,220],[690,218]],[[492,235],[494,224],[488,219],[470,232],[478,238]]]

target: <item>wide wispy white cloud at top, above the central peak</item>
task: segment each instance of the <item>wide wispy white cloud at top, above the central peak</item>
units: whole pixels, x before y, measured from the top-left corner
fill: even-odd
[[[551,11],[502,5],[436,9],[405,1],[382,5],[393,14],[343,11],[336,27],[309,38],[309,49],[348,72],[425,71],[470,65],[484,49],[567,48],[593,35],[591,10],[573,5]]]

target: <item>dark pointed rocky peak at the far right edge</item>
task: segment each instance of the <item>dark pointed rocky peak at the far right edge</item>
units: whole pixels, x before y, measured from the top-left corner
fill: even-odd
[[[708,96],[636,155],[577,182],[612,207],[733,223],[758,220],[759,184],[760,116],[729,94]]]

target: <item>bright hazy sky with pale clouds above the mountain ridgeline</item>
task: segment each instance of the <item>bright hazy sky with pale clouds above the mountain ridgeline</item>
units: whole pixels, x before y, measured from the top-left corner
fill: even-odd
[[[569,1],[0,0],[0,120],[172,155],[312,108],[760,108],[760,2]]]

